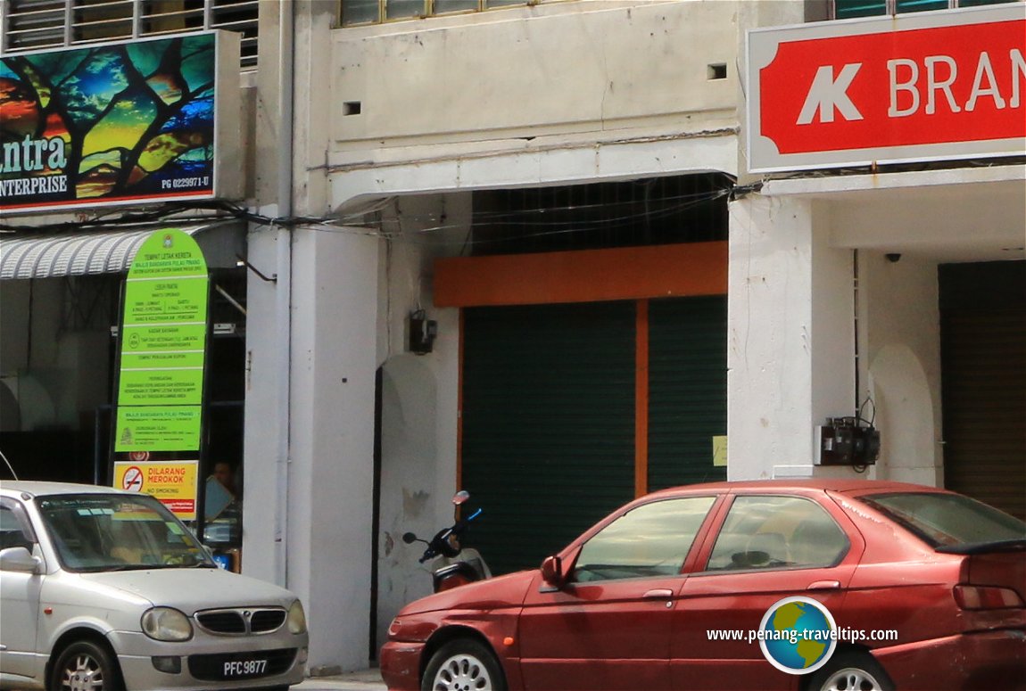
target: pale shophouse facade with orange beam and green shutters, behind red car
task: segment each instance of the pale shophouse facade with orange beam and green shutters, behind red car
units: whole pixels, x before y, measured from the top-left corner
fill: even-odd
[[[942,436],[978,374],[944,387],[977,358],[962,308],[1013,331],[1026,313],[1023,146],[750,165],[748,31],[934,9],[878,4],[259,3],[242,570],[304,597],[314,672],[364,666],[429,592],[400,536],[450,520],[458,488],[497,571],[703,480],[862,472],[996,500],[952,485]],[[993,340],[1020,348],[990,357],[1021,405],[1022,335]],[[817,465],[817,428],[860,413],[876,464]],[[1022,453],[988,477],[1022,489]]]

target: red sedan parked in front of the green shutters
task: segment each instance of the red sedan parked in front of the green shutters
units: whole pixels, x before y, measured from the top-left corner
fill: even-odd
[[[942,489],[692,485],[389,627],[393,691],[1026,688],[1026,524]]]

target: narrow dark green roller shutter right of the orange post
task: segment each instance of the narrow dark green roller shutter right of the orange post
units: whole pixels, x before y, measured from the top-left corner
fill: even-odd
[[[725,480],[726,296],[654,299],[648,325],[648,489]]]

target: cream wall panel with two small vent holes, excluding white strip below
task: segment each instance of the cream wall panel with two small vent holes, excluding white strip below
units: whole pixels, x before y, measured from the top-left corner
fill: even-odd
[[[574,2],[332,36],[343,149],[734,124],[736,2]],[[639,59],[639,56],[643,56]],[[343,104],[359,101],[359,115]]]

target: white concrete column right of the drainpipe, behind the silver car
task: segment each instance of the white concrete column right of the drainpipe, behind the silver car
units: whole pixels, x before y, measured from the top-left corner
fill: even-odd
[[[294,231],[287,582],[312,669],[368,658],[378,256],[357,229]]]

